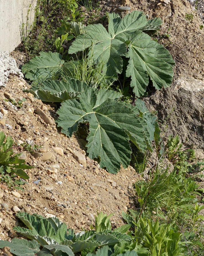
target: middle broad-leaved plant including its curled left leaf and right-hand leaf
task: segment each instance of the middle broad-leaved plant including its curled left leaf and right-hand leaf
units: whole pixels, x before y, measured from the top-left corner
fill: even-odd
[[[56,120],[62,133],[70,137],[80,123],[87,124],[89,157],[99,157],[100,166],[111,173],[116,173],[121,165],[129,165],[129,140],[142,152],[146,148],[151,150],[156,117],[140,100],[132,106],[120,102],[118,99],[122,95],[118,92],[90,88],[69,77],[66,81],[41,82],[28,91],[42,101],[64,101]]]

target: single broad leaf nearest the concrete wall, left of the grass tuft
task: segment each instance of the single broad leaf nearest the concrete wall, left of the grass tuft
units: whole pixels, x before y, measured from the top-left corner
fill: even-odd
[[[64,64],[62,55],[52,53],[51,51],[39,53],[39,56],[33,57],[22,66],[22,72],[25,77],[30,80],[43,81],[51,79]]]

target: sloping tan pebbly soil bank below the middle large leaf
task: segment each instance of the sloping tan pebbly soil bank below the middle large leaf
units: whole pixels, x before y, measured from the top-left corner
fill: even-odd
[[[22,152],[21,157],[35,168],[27,171],[30,179],[22,185],[24,192],[17,191],[17,196],[1,184],[0,202],[8,207],[2,207],[0,212],[0,238],[5,240],[13,236],[15,206],[21,211],[46,217],[57,216],[75,230],[81,227],[89,229],[97,211],[115,212],[112,224],[120,226],[122,210],[127,211],[133,205],[132,182],[136,179],[130,178],[135,175],[135,170],[129,166],[113,175],[89,157],[85,159],[85,151],[81,149],[77,136],[65,137],[56,129],[55,123],[46,124],[35,113],[40,107],[54,122],[56,106],[44,105],[33,99],[30,93],[22,92],[28,86],[24,79],[14,76],[0,90],[0,108],[6,110],[0,119],[0,131],[11,136],[16,143],[41,146],[35,157],[29,151],[15,150],[16,153]],[[14,105],[3,101],[8,93],[15,101],[26,99],[22,109],[17,110]],[[73,157],[74,150],[83,154],[86,167]]]

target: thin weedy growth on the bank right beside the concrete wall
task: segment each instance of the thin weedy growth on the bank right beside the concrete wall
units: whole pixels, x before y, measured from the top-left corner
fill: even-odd
[[[28,14],[26,25],[22,24],[21,50],[33,57],[42,50],[54,49],[55,31],[60,21],[64,18],[83,20],[83,13],[78,8],[75,0],[38,0],[33,24],[28,26]]]

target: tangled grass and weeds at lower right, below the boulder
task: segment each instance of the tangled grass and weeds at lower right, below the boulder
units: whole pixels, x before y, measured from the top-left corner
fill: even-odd
[[[180,244],[185,248],[184,254],[176,255],[201,256],[204,241],[204,216],[201,211],[204,205],[203,190],[198,189],[196,177],[197,172],[203,170],[204,162],[194,163],[194,151],[184,147],[178,136],[168,138],[163,153],[159,150],[162,148],[161,143],[159,144],[157,160],[150,168],[147,168],[148,157],[144,157],[143,161],[136,164],[145,179],[135,183],[137,210],[130,211],[129,220],[137,227],[141,225],[141,218],[142,221],[148,219],[147,225],[155,226],[154,228],[159,225],[158,223],[161,227],[171,227],[179,234]],[[167,159],[169,164],[166,162]],[[125,218],[127,221],[128,217]],[[142,228],[144,229],[144,226],[140,227]],[[156,233],[152,233],[151,239],[156,239],[156,236]],[[156,254],[152,252],[151,255]]]

